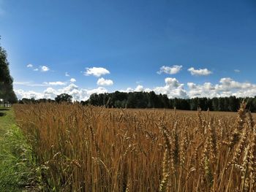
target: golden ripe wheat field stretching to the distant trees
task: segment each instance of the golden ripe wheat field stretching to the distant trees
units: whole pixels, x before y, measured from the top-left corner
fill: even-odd
[[[45,191],[256,191],[255,118],[16,104]]]

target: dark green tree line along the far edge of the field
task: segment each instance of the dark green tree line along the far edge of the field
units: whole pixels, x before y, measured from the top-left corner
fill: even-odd
[[[241,101],[247,102],[248,110],[256,112],[256,96],[254,98],[237,98],[236,96],[229,97],[214,97],[214,98],[193,98],[193,99],[168,99],[165,94],[156,94],[151,92],[119,92],[114,93],[94,93],[88,100],[80,101],[83,105],[105,106],[113,108],[165,108],[177,110],[201,110],[211,111],[227,111],[236,112],[239,109]],[[41,102],[56,102],[66,101],[72,103],[72,96],[62,93],[53,99],[21,99],[20,104],[26,103],[41,103]]]

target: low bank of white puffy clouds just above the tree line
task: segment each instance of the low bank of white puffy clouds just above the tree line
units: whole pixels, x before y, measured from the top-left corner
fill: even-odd
[[[63,88],[53,88],[52,86],[64,85],[67,82],[44,82],[42,84],[32,84],[31,82],[14,82],[15,85],[27,86],[45,86],[48,87],[42,93],[35,91],[23,91],[22,89],[15,90],[18,99],[32,98],[35,99],[54,99],[61,93],[67,93],[73,97],[73,100],[85,101],[89,99],[92,93],[106,93],[108,90],[104,87],[93,89],[78,88],[78,85],[70,83]],[[166,94],[168,98],[195,98],[195,97],[219,97],[219,96],[236,96],[236,97],[254,97],[256,96],[256,84],[250,82],[238,82],[230,77],[223,77],[217,84],[211,82],[204,82],[203,84],[196,84],[195,82],[187,82],[187,87],[184,83],[179,82],[176,78],[165,78],[165,85],[154,88],[144,88],[143,85],[137,85],[135,88],[127,88],[120,90],[122,92],[132,91],[154,91],[159,94]]]

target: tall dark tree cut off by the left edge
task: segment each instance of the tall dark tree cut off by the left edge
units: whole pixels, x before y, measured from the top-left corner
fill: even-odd
[[[12,86],[7,52],[0,46],[0,99],[15,103],[18,101]]]

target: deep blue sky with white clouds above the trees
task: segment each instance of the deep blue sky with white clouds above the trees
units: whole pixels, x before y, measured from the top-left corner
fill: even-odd
[[[1,46],[19,98],[255,96],[255,34],[253,0],[0,0]]]

